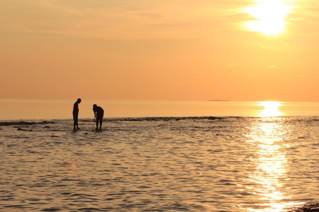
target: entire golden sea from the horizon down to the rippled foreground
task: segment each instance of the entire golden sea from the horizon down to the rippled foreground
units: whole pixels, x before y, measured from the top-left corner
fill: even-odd
[[[319,211],[318,102],[74,102],[0,100],[0,211]]]

